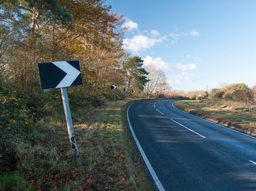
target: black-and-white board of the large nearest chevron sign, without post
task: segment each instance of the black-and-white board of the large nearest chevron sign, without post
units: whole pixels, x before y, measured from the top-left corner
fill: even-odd
[[[44,91],[83,85],[79,61],[38,63],[38,71],[41,88]]]

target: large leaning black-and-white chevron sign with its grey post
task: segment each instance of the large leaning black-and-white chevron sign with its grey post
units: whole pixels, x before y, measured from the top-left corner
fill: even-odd
[[[75,130],[72,124],[69,98],[67,97],[67,87],[83,85],[79,61],[38,63],[38,71],[41,88],[44,92],[60,88],[70,145],[79,168],[81,161],[75,138]]]

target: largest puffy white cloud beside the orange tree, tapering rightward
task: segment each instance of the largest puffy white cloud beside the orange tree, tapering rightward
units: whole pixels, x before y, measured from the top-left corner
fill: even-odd
[[[149,38],[145,35],[135,35],[131,39],[123,39],[124,49],[131,50],[133,52],[139,52],[141,50],[150,49],[157,43],[162,43],[163,38]]]

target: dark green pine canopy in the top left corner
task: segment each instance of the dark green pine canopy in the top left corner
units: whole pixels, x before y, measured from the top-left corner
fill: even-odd
[[[26,23],[31,34],[48,23],[69,23],[72,20],[71,14],[61,7],[58,0],[8,0],[0,5],[2,21],[10,26]]]

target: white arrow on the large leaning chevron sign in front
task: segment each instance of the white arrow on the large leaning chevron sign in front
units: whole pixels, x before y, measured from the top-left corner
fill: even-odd
[[[61,61],[61,62],[52,62],[56,67],[60,68],[61,70],[65,71],[67,75],[60,81],[58,87],[69,87],[76,80],[77,76],[81,73],[75,67],[70,65],[68,62]]]

